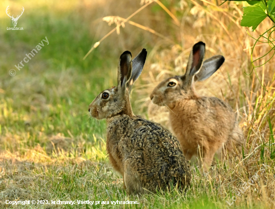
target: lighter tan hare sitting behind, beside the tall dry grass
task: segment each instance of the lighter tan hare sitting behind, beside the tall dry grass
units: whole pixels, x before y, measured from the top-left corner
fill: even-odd
[[[160,82],[150,98],[154,104],[168,107],[171,128],[186,159],[199,154],[203,170],[207,171],[215,152],[224,156],[223,145],[232,152],[232,142],[240,148],[243,137],[228,104],[195,92],[193,83],[211,76],[224,61],[223,56],[215,55],[203,62],[204,53],[203,42],[194,44],[185,74]]]

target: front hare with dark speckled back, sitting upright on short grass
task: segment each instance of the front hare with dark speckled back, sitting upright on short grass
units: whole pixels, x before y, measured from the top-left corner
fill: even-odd
[[[129,93],[140,75],[147,51],[134,59],[124,51],[117,66],[117,86],[100,92],[89,113],[106,118],[106,149],[113,168],[123,176],[128,194],[155,192],[170,185],[183,190],[190,182],[189,167],[175,136],[160,124],[132,112]]]

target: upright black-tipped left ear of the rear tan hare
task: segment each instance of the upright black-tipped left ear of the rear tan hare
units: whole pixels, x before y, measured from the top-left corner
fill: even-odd
[[[205,54],[205,43],[202,41],[197,42],[196,44],[193,45],[193,48],[190,52],[189,59],[187,62],[187,67],[185,74],[186,81],[188,81],[189,84],[191,84],[193,80],[193,76],[198,73],[203,58]]]

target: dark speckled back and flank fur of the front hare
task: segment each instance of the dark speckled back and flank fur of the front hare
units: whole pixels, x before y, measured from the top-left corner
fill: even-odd
[[[140,116],[121,115],[108,129],[112,148],[121,156],[127,173],[135,173],[143,187],[165,188],[169,181],[189,184],[190,171],[183,152],[166,128]]]

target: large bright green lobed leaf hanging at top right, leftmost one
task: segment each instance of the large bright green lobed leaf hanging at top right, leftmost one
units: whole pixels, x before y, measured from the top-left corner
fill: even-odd
[[[264,5],[262,2],[257,2],[254,5],[243,7],[243,16],[240,25],[246,27],[252,26],[254,30],[266,16]]]

